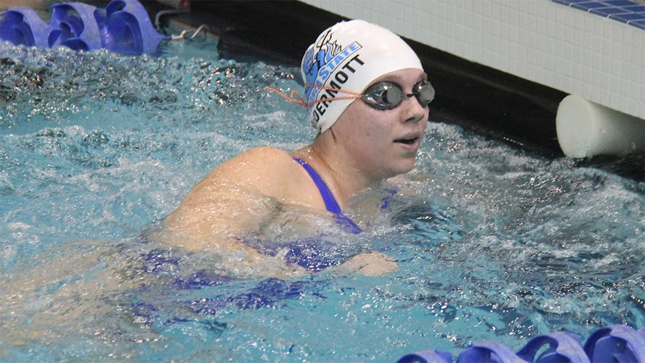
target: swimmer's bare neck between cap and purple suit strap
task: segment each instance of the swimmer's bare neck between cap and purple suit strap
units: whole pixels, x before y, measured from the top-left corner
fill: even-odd
[[[358,192],[378,186],[382,181],[361,170],[358,161],[337,145],[332,131],[319,134],[311,145],[295,151],[294,156],[305,160],[320,174],[341,208]]]

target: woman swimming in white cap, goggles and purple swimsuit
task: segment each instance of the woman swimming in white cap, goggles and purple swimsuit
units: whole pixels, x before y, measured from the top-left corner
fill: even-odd
[[[265,229],[282,207],[328,212],[344,231],[360,231],[365,223],[344,211],[353,198],[415,166],[434,89],[403,39],[363,20],[320,34],[304,54],[301,73],[304,98],[281,95],[306,107],[319,130],[313,142],[291,153],[254,148],[219,165],[162,221],[157,238],[192,250],[242,252],[250,266],[268,256],[245,236]],[[274,257],[281,267],[274,264],[266,275],[308,273],[283,255]],[[372,252],[335,268],[379,275],[397,265]]]

